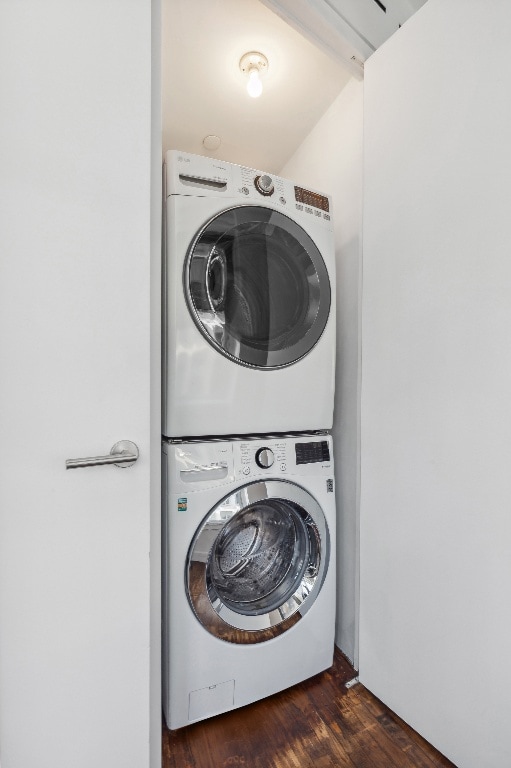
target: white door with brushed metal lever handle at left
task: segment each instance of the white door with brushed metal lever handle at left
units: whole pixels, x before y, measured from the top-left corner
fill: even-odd
[[[158,763],[151,23],[0,2],[2,768]],[[66,470],[123,439],[133,466]]]

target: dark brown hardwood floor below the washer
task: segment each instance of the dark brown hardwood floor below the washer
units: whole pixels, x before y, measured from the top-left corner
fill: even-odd
[[[163,768],[455,768],[334,666],[248,707],[163,731]]]

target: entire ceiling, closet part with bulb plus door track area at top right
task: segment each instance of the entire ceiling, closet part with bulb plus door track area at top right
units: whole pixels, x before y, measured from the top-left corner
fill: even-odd
[[[162,0],[163,148],[279,173],[364,61],[426,0]],[[239,62],[268,61],[263,94]],[[218,149],[203,139],[218,136]],[[328,159],[326,159],[328,162]]]

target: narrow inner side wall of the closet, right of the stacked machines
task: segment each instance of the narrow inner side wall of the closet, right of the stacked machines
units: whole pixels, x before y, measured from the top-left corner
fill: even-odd
[[[334,456],[338,509],[336,642],[357,662],[359,285],[363,85],[350,80],[280,174],[333,197],[337,256]]]

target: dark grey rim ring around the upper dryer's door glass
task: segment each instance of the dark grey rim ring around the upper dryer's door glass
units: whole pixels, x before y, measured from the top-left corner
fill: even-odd
[[[207,313],[203,311],[199,311],[195,306],[194,299],[191,295],[191,290],[190,290],[191,263],[194,256],[195,248],[199,243],[203,233],[210,227],[210,225],[212,224],[213,221],[215,221],[215,219],[221,216],[225,216],[226,214],[229,214],[234,211],[244,211],[250,208],[262,208],[265,211],[269,211],[271,214],[275,214],[279,218],[282,217],[283,219],[288,219],[290,222],[292,222],[292,224],[297,228],[299,233],[299,237],[297,238],[297,240],[304,248],[305,252],[310,258],[311,264],[315,269],[316,275],[318,277],[319,292],[320,292],[319,304],[315,308],[314,320],[312,322],[312,325],[305,331],[302,337],[302,340],[299,343],[295,343],[293,344],[293,346],[284,348],[282,350],[268,351],[269,362],[267,362],[267,364],[264,364],[264,365],[261,365],[257,362],[253,362],[250,360],[245,360],[243,359],[243,357],[237,356],[237,353],[234,348],[227,349],[225,346],[222,345],[222,343],[220,343],[215,338],[215,336],[218,333],[220,333],[220,329],[222,329],[220,335],[224,334],[224,330],[223,330],[225,327],[225,317],[223,317],[224,313],[217,312],[215,307],[212,306],[211,303],[210,303],[210,311],[208,311]],[[308,247],[306,247],[305,243],[307,243]],[[197,234],[193,238],[188,248],[188,252],[184,262],[183,287],[184,287],[184,294],[185,294],[186,303],[187,303],[190,315],[193,321],[195,322],[195,325],[197,326],[198,330],[200,331],[201,335],[203,336],[203,338],[214,349],[216,349],[220,354],[222,354],[224,357],[228,358],[229,360],[232,360],[238,365],[242,365],[247,368],[255,368],[257,370],[275,370],[279,368],[286,368],[287,366],[293,365],[294,363],[297,363],[300,360],[302,360],[304,357],[306,357],[314,349],[314,347],[322,337],[328,322],[329,315],[330,315],[330,304],[331,304],[330,277],[319,248],[314,243],[310,235],[305,231],[305,229],[300,224],[298,224],[298,222],[296,222],[290,216],[287,216],[286,214],[282,213],[281,211],[277,211],[274,208],[270,208],[269,206],[262,206],[262,205],[256,205],[256,204],[235,205],[230,208],[226,208],[220,213],[217,213],[214,216],[212,216],[200,228],[200,230],[197,232]],[[207,315],[207,318],[206,318],[206,315]],[[214,329],[213,333],[207,330],[208,327],[210,329]],[[238,346],[238,344],[234,340],[231,340],[230,344],[231,346],[234,345],[234,347]],[[246,347],[246,351],[248,350],[249,350],[249,347]]]

